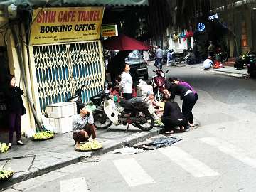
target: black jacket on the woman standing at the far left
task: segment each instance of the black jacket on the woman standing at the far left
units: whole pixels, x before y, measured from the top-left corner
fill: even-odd
[[[23,90],[20,87],[9,87],[6,91],[6,105],[8,112],[16,112],[21,109],[21,114],[25,114],[26,110],[23,105],[21,95]]]

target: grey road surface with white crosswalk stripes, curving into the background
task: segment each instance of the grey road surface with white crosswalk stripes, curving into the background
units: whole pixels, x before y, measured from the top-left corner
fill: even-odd
[[[174,134],[181,142],[134,155],[105,154],[99,162],[67,166],[6,191],[256,191],[255,80],[191,66],[168,70],[168,77],[198,91],[193,114],[200,126]]]

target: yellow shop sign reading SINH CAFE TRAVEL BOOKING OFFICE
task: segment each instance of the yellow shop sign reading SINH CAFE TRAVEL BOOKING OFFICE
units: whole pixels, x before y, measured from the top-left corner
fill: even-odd
[[[38,8],[33,11],[30,45],[100,38],[104,7]]]

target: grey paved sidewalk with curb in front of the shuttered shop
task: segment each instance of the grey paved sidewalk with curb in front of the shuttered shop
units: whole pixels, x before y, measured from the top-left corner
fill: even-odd
[[[32,141],[24,137],[24,146],[13,144],[6,154],[0,154],[0,166],[5,169],[10,167],[15,172],[8,181],[0,182],[0,191],[14,183],[78,163],[85,157],[105,154],[126,145],[132,146],[163,132],[163,128],[156,127],[149,132],[142,132],[133,126],[125,130],[124,126],[114,125],[108,129],[97,129],[97,141],[103,145],[103,149],[92,152],[75,151],[72,132],[55,134],[53,139],[45,141]],[[0,141],[6,142],[7,138],[8,133],[1,134]]]

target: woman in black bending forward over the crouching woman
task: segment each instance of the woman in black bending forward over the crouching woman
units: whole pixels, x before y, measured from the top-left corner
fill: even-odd
[[[188,87],[184,87],[183,85],[176,85],[173,82],[166,82],[164,92],[169,95],[172,100],[174,100],[175,95],[179,95],[181,100],[183,100],[182,113],[186,119],[185,129],[188,129],[188,120],[193,118],[191,117],[191,114],[193,105],[195,105],[195,95],[193,95],[192,90],[188,89]],[[171,92],[171,94],[169,92]]]

